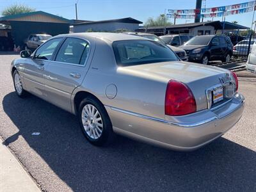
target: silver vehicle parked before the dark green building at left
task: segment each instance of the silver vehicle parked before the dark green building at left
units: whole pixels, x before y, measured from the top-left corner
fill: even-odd
[[[40,45],[44,44],[51,35],[46,34],[31,34],[26,40],[24,40],[24,49],[25,50],[35,50]]]

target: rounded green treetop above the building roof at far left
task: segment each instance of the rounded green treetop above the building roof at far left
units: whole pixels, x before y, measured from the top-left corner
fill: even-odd
[[[13,4],[11,6],[6,7],[2,12],[1,15],[9,16],[9,15],[16,15],[20,13],[29,13],[35,12],[34,8],[31,8],[25,4]]]

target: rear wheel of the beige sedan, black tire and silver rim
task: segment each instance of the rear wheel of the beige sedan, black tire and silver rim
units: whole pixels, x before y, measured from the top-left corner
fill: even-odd
[[[93,145],[106,146],[113,141],[115,134],[108,113],[93,97],[81,101],[78,118],[85,138]]]

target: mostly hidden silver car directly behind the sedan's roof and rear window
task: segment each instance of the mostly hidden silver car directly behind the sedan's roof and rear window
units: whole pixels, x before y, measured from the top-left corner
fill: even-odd
[[[156,36],[154,34],[150,34],[150,33],[125,32],[125,34],[143,36],[145,38],[149,38],[150,40],[154,40],[156,42],[166,44],[161,38],[159,38],[158,36]],[[177,54],[177,56],[179,56],[180,60],[188,61],[188,56],[186,54],[186,51],[184,51],[184,49],[180,49],[180,48],[174,47],[172,45],[168,45],[168,47],[170,47],[172,49],[172,51],[174,51]]]

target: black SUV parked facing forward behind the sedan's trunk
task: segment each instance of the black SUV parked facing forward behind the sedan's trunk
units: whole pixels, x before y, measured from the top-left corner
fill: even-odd
[[[180,46],[189,56],[189,61],[207,65],[209,61],[230,61],[233,54],[233,44],[228,36],[201,35],[191,38]]]

